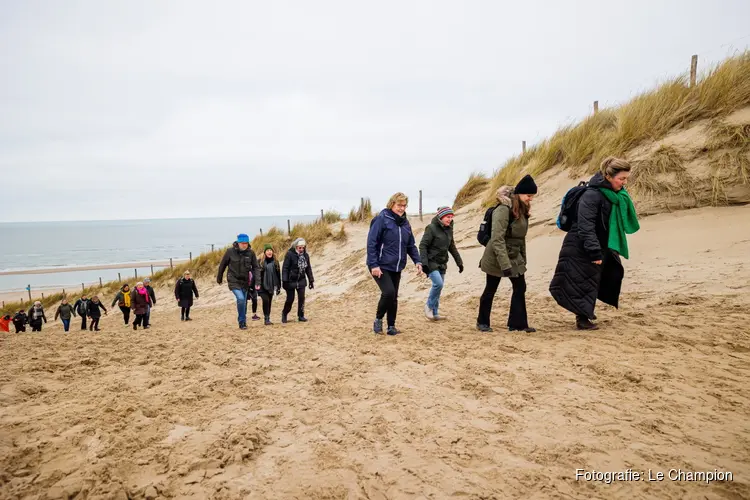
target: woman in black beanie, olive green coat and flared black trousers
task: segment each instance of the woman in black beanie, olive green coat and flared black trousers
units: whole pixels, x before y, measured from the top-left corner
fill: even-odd
[[[484,249],[479,267],[486,273],[484,292],[479,299],[477,330],[491,332],[492,301],[502,278],[513,285],[508,310],[508,330],[532,333],[526,315],[526,233],[529,229],[531,201],[537,186],[530,175],[515,188],[497,190],[498,205],[492,212],[490,241]]]

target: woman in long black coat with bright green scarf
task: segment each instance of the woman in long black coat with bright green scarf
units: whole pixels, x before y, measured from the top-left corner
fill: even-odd
[[[565,235],[549,291],[564,309],[576,315],[576,328],[597,330],[598,298],[618,307],[625,270],[620,256],[629,257],[627,235],[640,228],[627,189],[630,163],[609,157],[578,200],[576,217]]]

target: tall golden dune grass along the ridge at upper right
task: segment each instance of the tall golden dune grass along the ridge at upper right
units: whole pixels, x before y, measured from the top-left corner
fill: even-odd
[[[556,165],[593,173],[607,156],[627,157],[636,146],[663,138],[676,127],[726,116],[748,105],[750,52],[746,51],[710,69],[693,88],[686,76],[679,76],[621,106],[560,128],[526,153],[506,161],[491,179],[484,202],[493,203],[492,193],[498,187],[515,184],[524,173],[539,175]],[[748,131],[727,125],[716,134],[724,137],[721,144],[739,146],[747,140]],[[468,184],[462,190],[468,190]]]

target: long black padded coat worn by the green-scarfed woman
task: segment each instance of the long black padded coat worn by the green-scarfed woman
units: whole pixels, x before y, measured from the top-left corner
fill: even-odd
[[[609,249],[609,216],[612,203],[597,189],[612,185],[601,173],[589,181],[581,195],[578,217],[565,235],[549,291],[568,311],[589,319],[594,317],[598,298],[618,307],[625,270],[620,256]],[[593,261],[602,260],[601,265]]]

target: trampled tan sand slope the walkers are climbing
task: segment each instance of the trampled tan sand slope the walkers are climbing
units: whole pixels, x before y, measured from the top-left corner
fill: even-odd
[[[456,222],[466,270],[449,269],[449,320],[422,317],[427,281],[407,274],[399,337],[369,331],[366,226],[313,255],[306,325],[242,333],[229,291],[200,283],[191,323],[161,289],[146,332],[111,314],[98,334],[3,334],[0,496],[750,498],[750,207],[646,218],[622,308],[583,334],[546,291],[562,235],[545,203],[528,250],[534,335],[503,331],[506,282],[497,332],[473,330],[476,207]],[[606,485],[576,468],[734,481]]]

